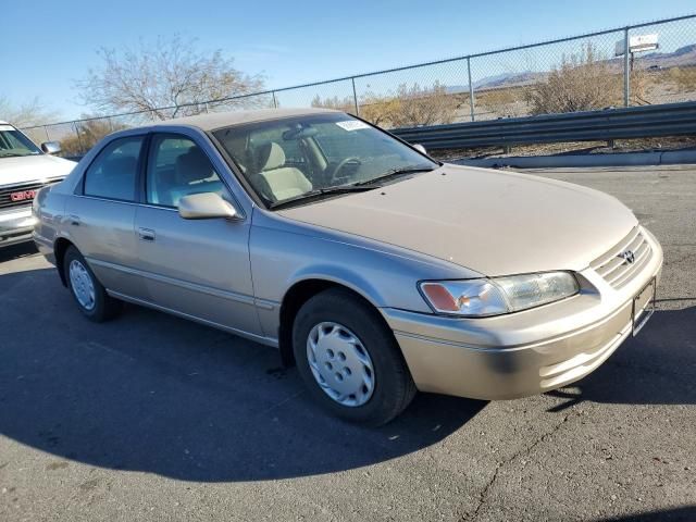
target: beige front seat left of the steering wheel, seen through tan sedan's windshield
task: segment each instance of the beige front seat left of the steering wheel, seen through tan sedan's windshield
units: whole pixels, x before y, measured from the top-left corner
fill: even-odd
[[[269,141],[259,147],[257,153],[257,167],[260,176],[272,192],[276,201],[300,196],[312,189],[304,174],[294,166],[285,165],[285,152],[283,148]]]

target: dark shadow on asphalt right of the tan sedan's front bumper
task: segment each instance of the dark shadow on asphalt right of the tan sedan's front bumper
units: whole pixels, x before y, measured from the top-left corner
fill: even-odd
[[[658,310],[597,371],[548,395],[564,399],[552,412],[584,401],[696,405],[696,307]]]

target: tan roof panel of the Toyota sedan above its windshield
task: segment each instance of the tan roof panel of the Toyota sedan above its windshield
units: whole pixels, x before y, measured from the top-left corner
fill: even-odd
[[[320,108],[257,109],[251,111],[212,112],[208,114],[198,114],[196,116],[184,116],[173,120],[164,120],[162,122],[150,124],[149,126],[157,127],[159,125],[188,125],[191,127],[198,127],[202,130],[214,130],[216,128],[241,125],[245,123],[282,120],[284,117],[332,112],[340,113],[340,111]]]

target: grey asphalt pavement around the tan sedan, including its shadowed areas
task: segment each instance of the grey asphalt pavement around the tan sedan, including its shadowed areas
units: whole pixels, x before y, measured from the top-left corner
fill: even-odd
[[[696,170],[535,171],[619,197],[662,243],[659,311],[576,385],[327,418],[253,343],[127,307],[83,320],[0,252],[0,520],[696,520]]]

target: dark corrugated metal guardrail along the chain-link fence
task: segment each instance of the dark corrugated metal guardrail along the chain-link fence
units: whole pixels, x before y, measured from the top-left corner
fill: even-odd
[[[696,102],[395,128],[390,132],[431,150],[696,135]]]

